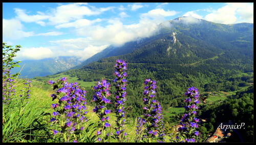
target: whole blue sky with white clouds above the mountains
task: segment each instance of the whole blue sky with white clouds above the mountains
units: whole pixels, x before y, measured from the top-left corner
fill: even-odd
[[[3,3],[3,42],[15,60],[77,56],[145,38],[181,16],[222,24],[253,23],[253,3]]]

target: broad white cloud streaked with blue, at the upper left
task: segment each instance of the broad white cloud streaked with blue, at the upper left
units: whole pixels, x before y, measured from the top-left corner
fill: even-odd
[[[90,7],[90,8],[89,8]],[[35,15],[28,15],[26,10],[15,8],[16,19],[24,22],[35,22],[41,26],[46,24],[62,24],[68,23],[72,20],[82,19],[83,16],[99,15],[103,12],[113,10],[115,7],[96,8],[89,6],[88,3],[73,3],[62,5],[52,8],[47,11],[47,14],[43,12],[37,12]],[[49,23],[45,21],[48,20]]]

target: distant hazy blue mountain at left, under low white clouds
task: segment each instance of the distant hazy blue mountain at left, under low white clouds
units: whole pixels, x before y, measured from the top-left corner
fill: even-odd
[[[33,78],[35,76],[46,76],[66,71],[80,63],[81,61],[74,56],[59,56],[42,60],[24,60],[19,63],[19,68],[16,67],[12,69],[12,73],[18,73],[22,70],[19,77]]]

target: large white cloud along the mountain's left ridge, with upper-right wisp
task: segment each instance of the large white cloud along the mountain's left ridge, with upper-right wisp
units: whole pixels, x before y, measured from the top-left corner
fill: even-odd
[[[158,24],[164,17],[173,16],[177,12],[163,9],[151,10],[140,15],[138,23],[124,25],[119,19],[110,19],[105,26],[91,25],[76,29],[79,36],[90,37],[95,41],[108,45],[120,46],[138,38],[150,37],[158,31]]]

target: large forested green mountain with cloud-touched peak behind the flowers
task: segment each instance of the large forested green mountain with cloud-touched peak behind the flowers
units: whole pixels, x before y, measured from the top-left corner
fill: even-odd
[[[184,91],[234,91],[253,73],[253,24],[220,24],[179,17],[159,25],[156,35],[109,47],[61,74],[83,81],[106,78],[113,86],[114,64],[127,62],[127,105],[142,113],[143,80],[157,81],[157,100],[163,108],[184,106]],[[250,78],[250,80],[253,78]],[[88,100],[93,91],[88,90]]]

